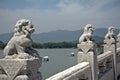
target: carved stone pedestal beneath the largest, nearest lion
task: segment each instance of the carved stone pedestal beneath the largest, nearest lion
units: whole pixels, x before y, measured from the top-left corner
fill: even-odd
[[[0,80],[42,80],[40,66],[38,58],[0,59]]]

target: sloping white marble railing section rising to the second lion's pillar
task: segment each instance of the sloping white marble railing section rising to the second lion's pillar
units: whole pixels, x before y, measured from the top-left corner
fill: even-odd
[[[68,68],[46,80],[74,80],[80,76],[90,78],[90,65],[88,62],[79,63],[71,68]]]

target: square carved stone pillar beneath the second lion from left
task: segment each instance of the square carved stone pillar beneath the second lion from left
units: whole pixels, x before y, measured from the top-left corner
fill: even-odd
[[[98,64],[96,44],[94,43],[81,43],[78,44],[78,63],[89,62],[92,70],[92,80],[98,80]]]

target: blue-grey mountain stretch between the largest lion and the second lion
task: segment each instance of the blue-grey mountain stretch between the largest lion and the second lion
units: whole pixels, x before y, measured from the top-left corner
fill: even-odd
[[[83,30],[67,31],[57,30],[32,36],[35,42],[61,42],[78,40]]]

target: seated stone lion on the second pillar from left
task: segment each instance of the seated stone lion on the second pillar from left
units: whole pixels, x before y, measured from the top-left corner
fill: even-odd
[[[87,24],[84,28],[84,32],[79,38],[79,43],[81,42],[92,42],[94,27],[91,24]]]

